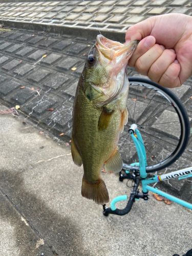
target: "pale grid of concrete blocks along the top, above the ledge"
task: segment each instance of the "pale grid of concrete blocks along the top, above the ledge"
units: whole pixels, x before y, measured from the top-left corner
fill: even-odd
[[[3,0],[2,0],[3,1]],[[90,14],[91,12],[91,14]],[[146,19],[152,15],[164,13],[185,13],[191,15],[191,5],[189,1],[182,0],[155,0],[155,1],[45,1],[45,2],[27,2],[21,5],[12,3],[11,8],[6,5],[0,5],[0,20],[7,26],[15,27],[46,27],[54,32],[68,30],[71,33],[82,33],[84,35],[92,33],[96,35],[98,29],[95,26],[97,22],[101,32],[108,32],[113,36],[124,34],[130,26],[138,23],[138,16]],[[131,18],[131,19],[130,19]],[[129,20],[130,23],[124,23]],[[95,20],[95,22],[94,22]],[[112,24],[116,25],[116,30],[110,29]],[[55,26],[56,25],[56,26]],[[28,40],[25,35],[23,40]]]

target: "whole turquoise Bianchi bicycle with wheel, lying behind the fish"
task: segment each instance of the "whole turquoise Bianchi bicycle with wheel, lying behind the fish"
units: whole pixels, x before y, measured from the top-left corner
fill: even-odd
[[[116,197],[109,208],[103,205],[103,214],[127,214],[135,200],[148,200],[148,191],[192,209],[192,204],[150,186],[160,181],[192,177],[192,167],[147,177],[148,173],[173,164],[184,152],[190,131],[186,110],[173,92],[159,84],[138,77],[129,77],[129,81],[129,120],[119,140],[124,161],[119,180],[132,180],[133,189],[124,209],[116,208],[116,203],[127,200],[127,195]],[[140,182],[141,193],[138,190]]]

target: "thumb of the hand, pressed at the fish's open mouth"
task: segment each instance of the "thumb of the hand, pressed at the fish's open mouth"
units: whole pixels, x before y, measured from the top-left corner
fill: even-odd
[[[141,40],[144,37],[151,35],[156,18],[150,17],[143,22],[137,23],[126,31],[125,44],[129,44],[135,40]]]

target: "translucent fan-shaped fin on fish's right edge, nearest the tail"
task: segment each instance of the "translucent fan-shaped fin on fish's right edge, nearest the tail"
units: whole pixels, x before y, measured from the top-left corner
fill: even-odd
[[[109,158],[108,161],[104,163],[105,170],[108,173],[119,173],[123,166],[123,160],[121,158],[120,152],[118,150],[118,147],[112,154],[112,156]]]

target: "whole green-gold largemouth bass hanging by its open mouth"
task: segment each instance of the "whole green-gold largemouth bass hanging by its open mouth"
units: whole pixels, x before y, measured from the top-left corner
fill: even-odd
[[[109,202],[101,169],[117,173],[122,159],[117,147],[127,123],[129,92],[126,67],[139,41],[120,44],[98,35],[78,82],[73,105],[71,152],[83,164],[81,194],[97,204]]]

